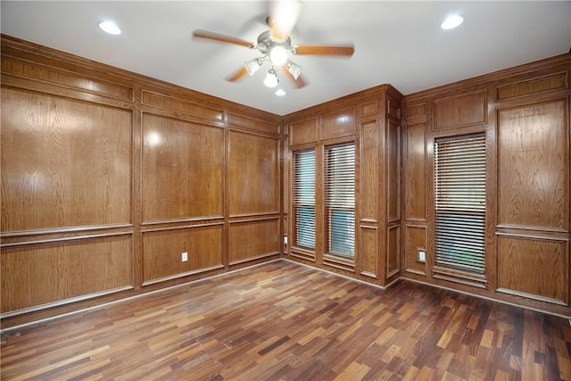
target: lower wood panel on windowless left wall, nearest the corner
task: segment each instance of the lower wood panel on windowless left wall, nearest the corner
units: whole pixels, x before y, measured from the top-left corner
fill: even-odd
[[[228,260],[230,265],[280,252],[279,219],[230,223]]]

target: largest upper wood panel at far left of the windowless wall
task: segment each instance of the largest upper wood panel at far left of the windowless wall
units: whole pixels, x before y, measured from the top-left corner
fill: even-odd
[[[131,112],[2,89],[2,231],[131,222]]]

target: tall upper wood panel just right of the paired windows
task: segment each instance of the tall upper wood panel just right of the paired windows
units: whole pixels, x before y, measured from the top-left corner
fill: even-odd
[[[378,220],[377,120],[360,123],[360,219]]]

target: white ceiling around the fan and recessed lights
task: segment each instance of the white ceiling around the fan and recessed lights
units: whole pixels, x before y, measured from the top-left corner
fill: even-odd
[[[259,56],[243,46],[193,38],[207,29],[255,42],[267,30],[261,1],[4,1],[2,33],[161,79],[239,104],[285,115],[343,95],[391,84],[403,95],[565,54],[571,2],[305,1],[291,34],[295,45],[352,43],[351,59],[294,56],[309,83],[287,93],[252,77],[225,78]],[[440,24],[451,12],[458,29]],[[115,21],[120,36],[103,33]]]

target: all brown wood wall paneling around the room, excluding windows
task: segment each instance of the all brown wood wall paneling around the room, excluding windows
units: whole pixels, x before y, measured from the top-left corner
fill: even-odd
[[[316,250],[285,244],[288,258],[571,316],[570,57],[279,118],[3,36],[2,325],[277,258],[292,150],[348,141],[355,260],[324,253],[319,161]],[[433,251],[434,139],[475,132],[487,140],[481,285],[434,269]]]

